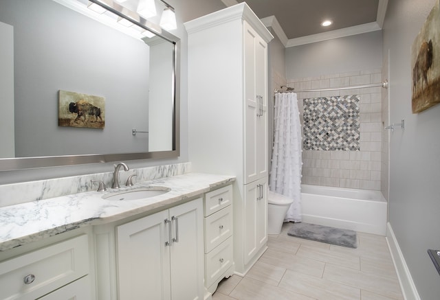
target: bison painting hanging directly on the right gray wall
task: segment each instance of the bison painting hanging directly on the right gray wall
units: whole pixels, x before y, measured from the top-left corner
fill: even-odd
[[[436,1],[412,43],[412,113],[440,103],[440,10]]]

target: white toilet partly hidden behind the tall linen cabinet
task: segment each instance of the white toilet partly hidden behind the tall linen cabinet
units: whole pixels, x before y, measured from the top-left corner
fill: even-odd
[[[281,227],[283,227],[284,218],[287,210],[294,202],[292,198],[269,191],[268,203],[268,220],[267,220],[267,234],[279,234]]]

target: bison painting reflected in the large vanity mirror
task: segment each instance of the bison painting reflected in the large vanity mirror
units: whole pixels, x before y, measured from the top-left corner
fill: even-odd
[[[102,129],[104,124],[104,97],[60,90],[58,126]]]

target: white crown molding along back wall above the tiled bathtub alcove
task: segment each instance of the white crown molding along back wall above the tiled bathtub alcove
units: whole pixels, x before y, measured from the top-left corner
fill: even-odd
[[[333,38],[342,38],[344,36],[354,36],[356,34],[364,34],[381,29],[382,28],[377,24],[377,22],[371,22],[362,25],[342,28],[340,30],[332,30],[330,32],[324,32],[322,34],[311,34],[309,36],[301,36],[300,38],[291,38],[287,42],[286,47],[295,47],[299,45],[322,42],[331,40]]]

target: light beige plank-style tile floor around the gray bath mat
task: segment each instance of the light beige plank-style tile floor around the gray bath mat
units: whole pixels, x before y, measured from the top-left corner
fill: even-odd
[[[384,236],[358,233],[350,249],[287,235],[269,235],[269,249],[245,277],[220,282],[212,300],[403,300]]]

